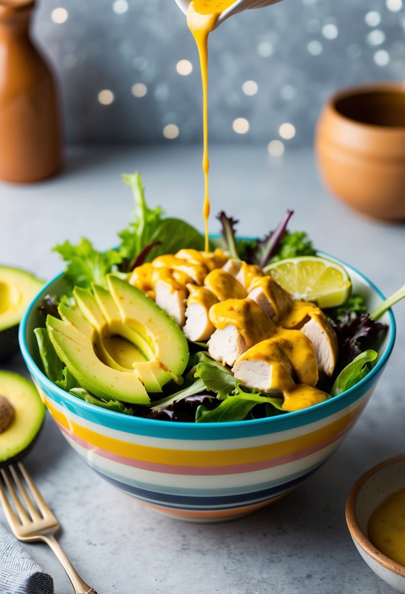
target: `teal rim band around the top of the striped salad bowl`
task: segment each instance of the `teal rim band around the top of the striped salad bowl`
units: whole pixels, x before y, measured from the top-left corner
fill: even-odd
[[[359,277],[363,281],[365,281],[365,283],[368,284],[377,293],[377,295],[379,297],[381,297],[382,300],[385,299],[383,293],[374,285],[374,283],[372,283],[371,280],[369,280],[364,274],[360,273],[356,268],[353,268],[353,266],[346,264],[342,260],[338,260],[338,258],[336,258],[334,256],[325,254],[325,252],[319,251],[317,253],[321,257],[330,258],[331,260],[336,261],[338,264],[341,264],[343,267],[347,267],[347,268],[349,268],[349,270],[352,270],[354,273],[358,274]],[[258,428],[260,425],[269,425],[269,429],[271,428],[273,431],[282,431],[285,428],[285,421],[287,419],[289,419],[290,421],[298,421],[299,419],[302,419],[301,424],[296,425],[293,423],[292,426],[306,425],[306,424],[308,424],[308,422],[318,421],[319,419],[324,418],[325,415],[323,415],[322,412],[324,411],[324,409],[327,409],[327,408],[334,409],[335,408],[333,406],[334,403],[336,403],[336,405],[337,405],[338,403],[340,403],[342,400],[345,400],[345,399],[350,401],[351,397],[357,391],[362,391],[364,393],[366,391],[365,388],[368,386],[368,384],[374,383],[373,380],[376,378],[376,376],[379,375],[380,372],[382,372],[382,369],[384,368],[385,364],[387,363],[388,358],[390,358],[390,355],[391,355],[391,352],[393,350],[394,343],[395,343],[395,335],[396,335],[395,318],[394,318],[394,314],[391,311],[391,309],[388,309],[388,315],[390,317],[390,326],[388,328],[388,332],[390,333],[388,345],[385,348],[384,352],[382,353],[381,358],[378,360],[377,364],[369,372],[369,374],[367,374],[365,378],[360,380],[359,383],[356,384],[356,386],[353,386],[352,388],[349,388],[349,390],[346,390],[343,393],[338,394],[338,396],[334,396],[334,397],[330,398],[329,400],[325,400],[325,402],[321,402],[317,405],[308,407],[306,409],[296,410],[295,412],[286,413],[286,415],[277,415],[277,416],[273,416],[273,417],[264,417],[264,418],[260,418],[260,419],[249,419],[247,421],[229,421],[229,422],[226,422],[225,424],[223,424],[223,423],[201,423],[201,424],[199,424],[199,423],[192,423],[192,422],[174,423],[173,421],[162,421],[160,419],[145,419],[140,416],[122,415],[122,413],[115,412],[113,410],[106,410],[106,409],[103,409],[102,407],[95,407],[94,405],[91,405],[91,404],[85,402],[84,400],[80,400],[77,397],[72,396],[72,394],[69,394],[68,392],[62,390],[62,388],[55,386],[55,384],[52,381],[50,381],[48,379],[48,377],[46,377],[46,375],[36,365],[36,363],[34,362],[32,356],[31,356],[31,353],[29,352],[27,342],[26,342],[26,331],[27,331],[27,324],[28,324],[28,320],[29,320],[31,311],[34,308],[34,305],[38,301],[39,297],[42,295],[45,295],[48,292],[49,287],[52,286],[53,283],[56,282],[56,280],[61,278],[63,276],[63,274],[64,273],[62,272],[62,273],[58,274],[57,276],[53,277],[52,280],[50,280],[44,287],[42,287],[42,289],[32,299],[32,301],[30,302],[30,305],[26,309],[26,312],[23,316],[23,319],[21,320],[20,328],[18,331],[18,340],[20,343],[21,353],[23,355],[24,361],[26,362],[26,365],[27,365],[29,371],[30,372],[33,371],[36,374],[39,374],[43,384],[46,387],[48,387],[48,389],[51,392],[55,391],[56,394],[58,394],[59,399],[67,400],[67,402],[74,405],[74,407],[79,408],[79,409],[84,409],[85,411],[87,411],[89,413],[97,412],[97,415],[100,415],[100,418],[105,419],[105,421],[108,421],[108,419],[110,419],[111,422],[106,422],[106,426],[112,424],[113,419],[115,419],[115,421],[119,421],[119,419],[121,419],[121,421],[123,423],[125,421],[125,423],[124,423],[125,428],[128,428],[132,423],[134,424],[134,426],[137,423],[144,425],[145,428],[147,428],[147,427],[151,428],[152,426],[154,428],[157,428],[158,426],[162,426],[162,424],[164,424],[163,426],[165,426],[166,428],[170,427],[172,429],[173,429],[173,425],[175,425],[176,428],[179,429],[179,431],[184,431],[184,430],[189,431],[191,427],[193,428],[192,431],[207,431],[207,429],[212,430],[214,427],[216,427],[216,428],[222,427],[223,428],[224,425],[226,425],[227,429],[236,429],[236,428],[248,429],[249,427],[250,428],[254,428],[254,427]],[[94,409],[97,409],[97,411],[95,411]],[[340,410],[340,409],[341,409],[341,407],[338,407],[337,410]],[[332,415],[334,412],[337,412],[337,410],[331,410],[330,414]],[[317,415],[317,412],[319,413],[319,415]],[[314,415],[314,413],[315,413],[315,415]],[[311,416],[311,418],[308,419],[308,416]]]

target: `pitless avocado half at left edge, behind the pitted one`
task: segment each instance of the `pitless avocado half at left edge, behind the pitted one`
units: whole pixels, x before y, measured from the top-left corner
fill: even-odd
[[[0,266],[0,361],[17,352],[18,324],[42,286],[25,270]]]

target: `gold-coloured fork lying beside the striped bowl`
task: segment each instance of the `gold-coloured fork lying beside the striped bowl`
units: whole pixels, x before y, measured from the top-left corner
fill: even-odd
[[[24,481],[29,486],[30,495],[15,466],[10,465],[7,469],[0,469],[3,479],[2,481],[0,479],[0,503],[14,536],[23,542],[46,542],[66,571],[74,587],[75,594],[97,594],[96,590],[83,582],[64,551],[62,551],[53,536],[60,527],[58,520],[50,511],[23,464],[18,462],[17,466]],[[25,507],[21,500],[23,500]],[[14,505],[14,509],[10,501]]]

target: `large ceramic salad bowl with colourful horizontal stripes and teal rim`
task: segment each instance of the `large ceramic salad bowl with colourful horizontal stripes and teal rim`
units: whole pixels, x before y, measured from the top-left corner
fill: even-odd
[[[347,267],[354,290],[375,307],[382,295]],[[258,510],[312,474],[355,425],[387,364],[395,339],[389,330],[375,368],[357,386],[327,402],[267,419],[173,423],[142,419],[89,405],[56,387],[41,371],[33,330],[43,324],[37,305],[61,294],[62,276],[31,303],[20,325],[20,346],[50,415],[68,443],[107,481],[140,503],[191,522],[217,522]]]

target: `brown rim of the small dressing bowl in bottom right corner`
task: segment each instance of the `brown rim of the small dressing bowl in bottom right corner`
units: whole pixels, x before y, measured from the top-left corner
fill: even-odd
[[[385,567],[386,569],[393,571],[393,573],[396,573],[398,576],[405,578],[405,566],[393,561],[390,559],[390,557],[387,557],[381,551],[379,551],[379,549],[372,545],[365,533],[362,531],[362,529],[360,529],[356,517],[357,495],[359,495],[362,486],[365,485],[365,483],[368,482],[376,472],[379,472],[379,470],[382,470],[387,466],[391,466],[391,464],[395,464],[396,462],[401,462],[402,460],[405,460],[405,454],[400,454],[399,456],[385,460],[384,462],[373,466],[362,476],[360,476],[360,478],[357,479],[355,484],[352,486],[352,489],[350,489],[349,495],[347,496],[345,515],[350,535],[352,536],[353,540],[356,541],[357,544],[363,549],[363,551],[365,551],[369,557],[374,559],[376,563],[382,565],[382,567]]]

